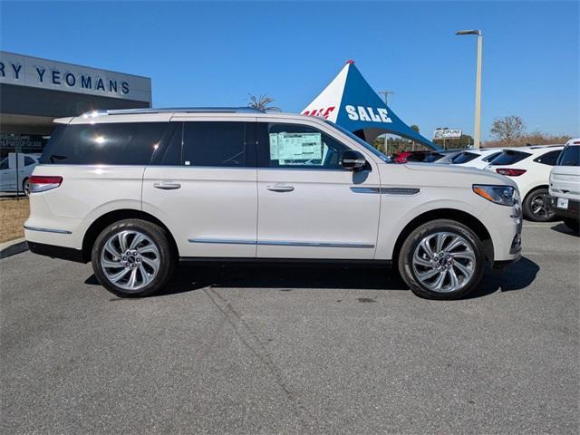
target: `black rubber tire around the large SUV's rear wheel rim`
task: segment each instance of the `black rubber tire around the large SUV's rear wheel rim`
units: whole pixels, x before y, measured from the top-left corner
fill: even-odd
[[[139,289],[128,290],[122,288],[120,285],[115,285],[102,270],[102,253],[105,243],[111,237],[118,235],[122,231],[137,231],[149,237],[150,242],[152,242],[152,245],[159,252],[157,275],[154,275],[148,284],[141,286]],[[107,253],[107,255],[109,254]],[[169,235],[167,232],[163,228],[142,219],[124,219],[104,228],[92,246],[91,258],[92,270],[99,282],[103,287],[120,297],[143,297],[159,292],[168,283],[171,275],[173,275],[176,262],[176,255],[169,244]],[[145,266],[144,260],[142,266]],[[121,267],[120,270],[128,270],[131,272],[131,267],[125,269]],[[142,275],[141,280],[144,281]]]

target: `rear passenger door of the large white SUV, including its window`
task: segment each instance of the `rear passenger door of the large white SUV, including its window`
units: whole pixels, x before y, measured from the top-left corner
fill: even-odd
[[[143,211],[169,227],[179,256],[256,256],[253,121],[185,118],[145,169]]]

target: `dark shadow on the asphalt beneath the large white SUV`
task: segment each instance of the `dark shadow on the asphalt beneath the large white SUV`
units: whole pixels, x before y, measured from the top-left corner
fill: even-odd
[[[488,271],[469,299],[497,291],[521,290],[536,279],[539,266],[523,257],[507,270]],[[99,285],[91,275],[85,284]],[[169,284],[156,295],[179,295],[201,288],[271,288],[289,292],[297,288],[346,290],[409,290],[396,269],[363,266],[187,266],[176,270]]]

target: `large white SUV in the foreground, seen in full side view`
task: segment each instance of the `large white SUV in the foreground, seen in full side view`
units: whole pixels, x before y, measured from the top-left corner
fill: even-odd
[[[332,122],[243,109],[105,111],[56,120],[31,182],[37,253],[92,261],[121,296],[178,261],[399,267],[456,298],[520,256],[515,184],[476,169],[391,164]]]

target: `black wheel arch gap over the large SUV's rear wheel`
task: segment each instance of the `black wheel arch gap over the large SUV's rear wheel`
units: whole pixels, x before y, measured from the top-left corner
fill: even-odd
[[[163,228],[168,235],[171,249],[174,251],[176,256],[179,256],[179,249],[173,235],[169,231],[169,228],[161,222],[159,218],[155,218],[153,215],[141,210],[123,208],[103,214],[99,218],[96,218],[91,226],[87,228],[84,237],[82,237],[82,259],[85,262],[91,261],[92,246],[102,230],[112,223],[118,222],[122,219],[143,219]]]

